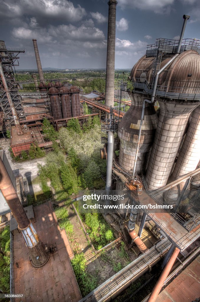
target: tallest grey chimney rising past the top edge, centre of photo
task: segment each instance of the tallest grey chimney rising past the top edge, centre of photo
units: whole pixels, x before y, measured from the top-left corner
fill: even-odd
[[[114,106],[116,0],[108,2],[108,43],[106,61],[105,104]]]

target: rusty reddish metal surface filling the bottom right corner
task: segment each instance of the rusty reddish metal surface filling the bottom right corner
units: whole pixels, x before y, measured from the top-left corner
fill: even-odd
[[[188,302],[200,297],[200,256],[158,295],[156,302]]]

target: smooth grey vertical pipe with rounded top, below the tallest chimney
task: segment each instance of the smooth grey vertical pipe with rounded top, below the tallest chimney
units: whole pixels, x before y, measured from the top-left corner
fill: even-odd
[[[107,168],[106,168],[106,185],[105,189],[111,189],[112,181],[112,162],[113,162],[113,150],[114,150],[114,135],[113,132],[108,132],[108,146],[107,146]]]

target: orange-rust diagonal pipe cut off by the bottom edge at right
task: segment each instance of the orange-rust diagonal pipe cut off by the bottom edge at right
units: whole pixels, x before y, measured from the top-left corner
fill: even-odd
[[[160,290],[163,287],[163,284],[164,284],[167,276],[169,275],[169,272],[172,269],[174,262],[176,261],[176,258],[178,256],[179,252],[180,252],[180,250],[176,247],[175,250],[173,251],[173,254],[169,258],[169,261],[167,262],[165,268],[163,269],[163,271],[160,275],[160,278],[156,282],[156,285],[154,286],[153,291],[150,294],[148,302],[156,301],[156,299],[160,293]]]

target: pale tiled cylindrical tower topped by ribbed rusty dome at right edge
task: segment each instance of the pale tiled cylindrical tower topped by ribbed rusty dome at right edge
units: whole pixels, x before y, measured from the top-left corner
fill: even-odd
[[[150,190],[166,185],[189,115],[199,104],[195,92],[200,87],[200,69],[196,66],[200,66],[200,55],[187,50],[160,74],[159,89],[166,91],[166,95],[170,93],[172,98],[157,98],[160,115],[145,177]]]

